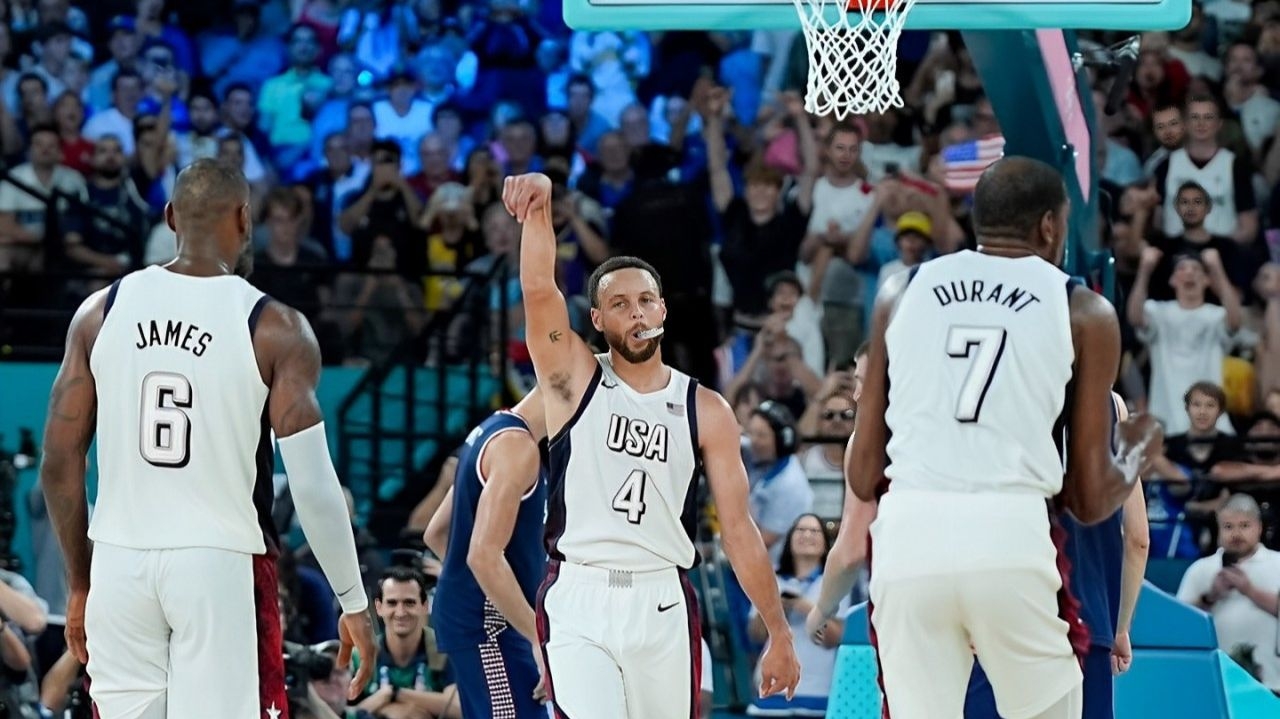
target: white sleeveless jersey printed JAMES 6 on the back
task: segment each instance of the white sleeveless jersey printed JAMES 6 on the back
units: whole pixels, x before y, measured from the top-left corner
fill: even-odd
[[[238,276],[155,266],[111,288],[90,356],[99,466],[90,539],[265,550],[274,452],[251,338],[265,299]]]

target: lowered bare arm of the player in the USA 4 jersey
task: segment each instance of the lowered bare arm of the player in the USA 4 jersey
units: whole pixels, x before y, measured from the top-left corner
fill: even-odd
[[[769,554],[748,508],[749,485],[737,421],[724,398],[705,388],[698,388],[698,418],[703,467],[719,514],[724,554],[769,632],[759,663],[760,696],[786,692],[791,699],[800,681],[800,663]]]

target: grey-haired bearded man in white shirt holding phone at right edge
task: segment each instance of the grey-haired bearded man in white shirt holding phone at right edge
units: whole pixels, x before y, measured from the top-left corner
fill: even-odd
[[[1262,546],[1262,513],[1247,494],[1217,513],[1221,549],[1187,569],[1178,599],[1213,615],[1217,646],[1280,691],[1280,551]]]

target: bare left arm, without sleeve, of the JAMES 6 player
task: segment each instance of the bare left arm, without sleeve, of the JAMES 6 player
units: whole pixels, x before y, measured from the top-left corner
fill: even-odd
[[[92,294],[72,319],[67,348],[49,393],[45,441],[41,452],[40,486],[45,491],[49,518],[58,533],[67,565],[67,646],[82,663],[84,649],[84,600],[88,597],[88,498],[84,468],[88,446],[97,427],[97,385],[88,368],[88,354],[102,328],[106,290]]]

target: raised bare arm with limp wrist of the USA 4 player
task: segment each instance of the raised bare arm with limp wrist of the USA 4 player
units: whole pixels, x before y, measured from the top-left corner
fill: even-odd
[[[568,324],[564,296],[556,284],[556,229],[552,226],[552,180],[531,173],[507,178],[502,201],[524,225],[520,239],[520,288],[525,334],[538,384],[547,391],[552,435],[577,408],[595,374],[595,357]]]

